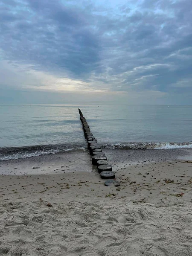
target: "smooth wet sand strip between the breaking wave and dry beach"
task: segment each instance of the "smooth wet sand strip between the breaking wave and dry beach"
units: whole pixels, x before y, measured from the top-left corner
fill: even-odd
[[[114,171],[125,166],[170,160],[192,160],[191,148],[177,149],[108,149],[105,148]],[[93,172],[91,157],[87,150],[72,151],[0,161],[0,175],[40,175],[67,172]]]

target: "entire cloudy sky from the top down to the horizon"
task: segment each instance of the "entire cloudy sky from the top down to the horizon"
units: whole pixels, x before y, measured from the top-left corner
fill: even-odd
[[[0,0],[0,103],[192,105],[192,0]]]

